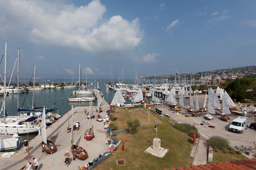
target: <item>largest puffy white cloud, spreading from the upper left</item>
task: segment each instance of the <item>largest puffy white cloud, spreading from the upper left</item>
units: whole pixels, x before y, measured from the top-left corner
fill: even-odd
[[[86,6],[61,4],[62,1],[1,1],[0,34],[19,34],[40,44],[78,48],[92,53],[131,50],[143,36],[138,18],[104,18],[105,6],[92,0]],[[16,29],[18,28],[18,29]]]

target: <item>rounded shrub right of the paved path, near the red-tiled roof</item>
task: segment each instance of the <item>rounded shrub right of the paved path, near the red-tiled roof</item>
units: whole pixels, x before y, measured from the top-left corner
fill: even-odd
[[[212,148],[216,148],[222,151],[225,151],[226,149],[229,149],[229,142],[227,139],[220,137],[220,136],[212,136],[209,139],[209,145]]]

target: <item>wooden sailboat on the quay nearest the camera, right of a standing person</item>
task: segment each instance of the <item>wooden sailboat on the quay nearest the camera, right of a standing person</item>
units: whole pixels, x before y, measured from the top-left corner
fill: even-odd
[[[72,124],[74,122],[74,109],[73,109],[73,105],[72,105]],[[82,147],[80,147],[77,144],[74,144],[74,136],[73,136],[73,126],[71,126],[71,139],[70,139],[70,149],[71,149],[71,153],[73,154],[73,160],[80,159],[80,160],[84,160],[86,158],[88,158],[88,153],[85,149],[83,149]]]

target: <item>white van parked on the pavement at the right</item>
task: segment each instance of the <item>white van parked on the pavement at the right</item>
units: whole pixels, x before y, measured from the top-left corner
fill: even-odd
[[[229,124],[228,130],[230,132],[243,133],[243,131],[247,129],[247,126],[247,117],[238,116],[238,118],[233,119]]]

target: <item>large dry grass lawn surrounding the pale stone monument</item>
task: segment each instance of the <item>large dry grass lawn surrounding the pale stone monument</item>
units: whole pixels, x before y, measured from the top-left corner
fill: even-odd
[[[120,109],[114,112],[117,117],[115,124],[117,131],[127,128],[126,121],[137,118],[140,120],[138,133],[131,137],[121,138],[124,142],[124,151],[121,150],[122,143],[113,152],[110,158],[100,163],[94,169],[164,169],[170,167],[185,166],[193,163],[194,159],[189,157],[192,140],[187,134],[173,128],[167,117],[160,117],[151,111],[150,122],[144,108]],[[161,139],[161,147],[169,151],[163,158],[146,154],[144,151],[153,143],[156,137],[155,126],[158,127],[158,138]],[[117,136],[130,135],[126,132],[117,133]],[[117,165],[117,160],[124,160],[124,165]]]

